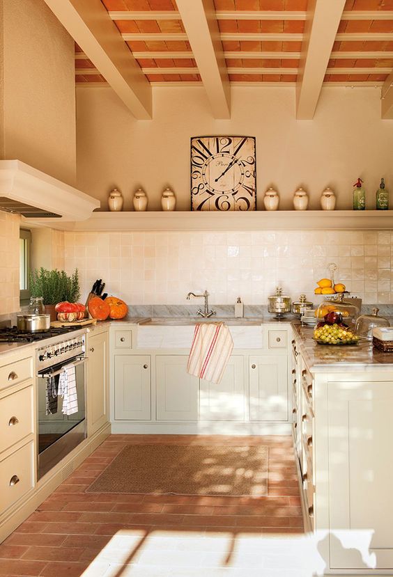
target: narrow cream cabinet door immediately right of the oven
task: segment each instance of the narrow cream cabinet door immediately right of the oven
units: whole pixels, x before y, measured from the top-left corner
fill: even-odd
[[[108,421],[108,332],[87,337],[87,430],[92,435]]]

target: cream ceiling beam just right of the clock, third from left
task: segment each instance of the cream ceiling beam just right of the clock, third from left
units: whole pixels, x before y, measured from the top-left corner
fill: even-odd
[[[314,117],[344,5],[345,0],[309,0],[296,85],[298,120]]]

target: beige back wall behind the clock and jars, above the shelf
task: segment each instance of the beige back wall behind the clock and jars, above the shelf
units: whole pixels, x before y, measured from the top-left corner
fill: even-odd
[[[350,208],[358,176],[375,206],[381,176],[392,189],[393,121],[380,120],[380,90],[324,88],[314,120],[295,120],[292,88],[232,88],[231,120],[214,120],[203,88],[155,88],[154,120],[134,120],[111,88],[77,88],[78,187],[103,201],[119,187],[125,210],[132,194],[146,190],[151,210],[160,209],[170,186],[178,210],[190,207],[190,136],[256,136],[257,196],[277,187],[283,209],[299,186],[309,191],[311,208],[332,187],[337,207]],[[334,216],[332,216],[334,218]]]

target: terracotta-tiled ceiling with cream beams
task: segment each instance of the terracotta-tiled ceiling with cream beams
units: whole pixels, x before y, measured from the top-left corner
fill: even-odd
[[[61,1],[45,1],[62,19],[61,10],[56,10]],[[77,26],[72,24],[72,17],[71,22],[70,16],[63,17],[63,24],[77,40],[78,85],[94,88],[111,84],[116,90],[111,70],[108,72],[97,55],[103,49],[111,58],[110,32],[112,49],[121,40],[129,52],[129,61],[123,53],[123,70],[116,62],[115,65],[131,90],[133,82],[130,77],[127,79],[127,66],[134,82],[139,88],[144,85],[145,92],[147,86],[203,85],[217,118],[230,116],[229,86],[296,86],[300,119],[312,118],[322,86],[378,86],[386,100],[382,116],[393,118],[393,102],[389,100],[393,80],[393,0],[63,3],[70,4],[99,45],[94,47],[83,34],[73,35]],[[94,30],[97,17],[108,21],[106,37],[100,38]],[[140,95],[137,98],[141,100]],[[148,108],[142,102],[143,107]]]

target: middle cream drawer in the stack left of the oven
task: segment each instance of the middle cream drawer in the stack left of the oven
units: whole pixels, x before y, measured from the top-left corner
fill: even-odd
[[[0,399],[0,453],[33,433],[33,386]]]

